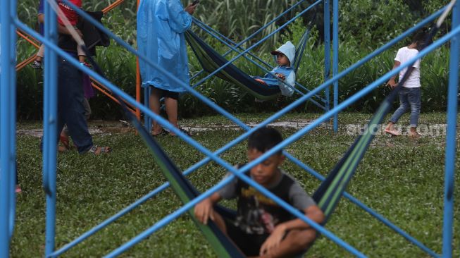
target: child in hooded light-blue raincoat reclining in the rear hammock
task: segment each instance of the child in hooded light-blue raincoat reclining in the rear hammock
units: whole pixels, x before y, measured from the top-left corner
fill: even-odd
[[[283,44],[280,48],[272,51],[271,54],[276,56],[275,67],[270,73],[263,78],[254,76],[254,79],[264,85],[278,85],[281,94],[287,97],[292,96],[295,86],[295,72],[292,68],[295,56],[295,47],[290,41]],[[281,80],[278,80],[278,78]]]

